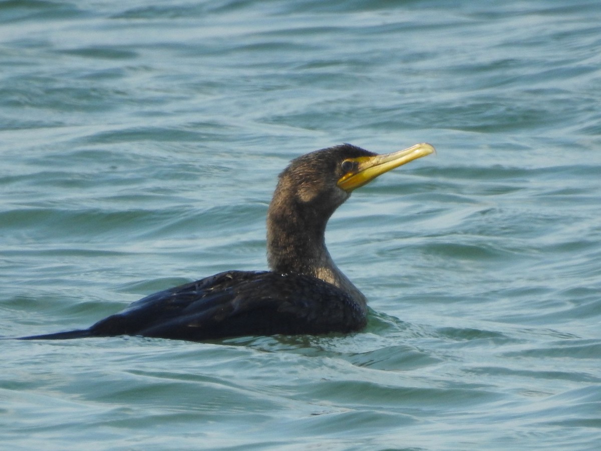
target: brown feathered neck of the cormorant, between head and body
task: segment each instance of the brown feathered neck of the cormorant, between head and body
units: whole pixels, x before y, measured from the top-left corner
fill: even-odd
[[[282,274],[306,274],[343,289],[360,304],[365,296],[335,265],[325,244],[326,224],[332,212],[297,200],[273,197],[267,212],[267,261]]]

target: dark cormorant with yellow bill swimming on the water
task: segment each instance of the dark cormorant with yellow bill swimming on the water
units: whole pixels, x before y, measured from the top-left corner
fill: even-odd
[[[22,339],[138,335],[200,341],[361,330],[366,299],[332,261],[326,224],[354,189],[432,152],[425,143],[386,155],[344,144],[302,155],[279,174],[267,212],[271,271],[221,272],[154,293],[88,329]]]

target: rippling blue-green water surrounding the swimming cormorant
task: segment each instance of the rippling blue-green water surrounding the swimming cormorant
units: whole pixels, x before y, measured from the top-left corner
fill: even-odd
[[[597,2],[0,2],[0,334],[263,269],[295,156],[429,156],[327,241],[362,333],[2,342],[7,449],[597,449]]]

